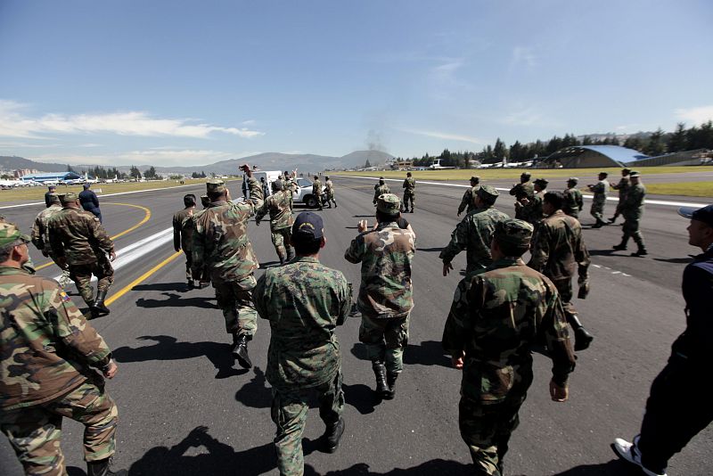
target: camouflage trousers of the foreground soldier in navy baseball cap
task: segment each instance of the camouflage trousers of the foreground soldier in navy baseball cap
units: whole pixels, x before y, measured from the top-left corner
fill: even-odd
[[[341,369],[329,382],[312,389],[277,390],[273,388],[272,418],[277,426],[275,451],[277,468],[282,476],[302,476],[302,433],[307,421],[309,397],[316,392],[319,398],[319,416],[327,424],[339,422],[344,410],[344,392],[341,390]]]

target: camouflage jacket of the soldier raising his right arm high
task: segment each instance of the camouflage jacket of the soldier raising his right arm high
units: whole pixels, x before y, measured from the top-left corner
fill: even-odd
[[[259,267],[258,257],[248,237],[248,220],[262,205],[262,190],[254,177],[248,181],[250,198],[246,201],[215,201],[193,217],[194,276],[208,267],[210,281],[226,283],[252,274]]]

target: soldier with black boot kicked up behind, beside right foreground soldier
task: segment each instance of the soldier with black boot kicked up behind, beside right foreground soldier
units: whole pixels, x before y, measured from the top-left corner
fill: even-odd
[[[594,340],[577,316],[572,304],[572,277],[578,274],[579,297],[589,292],[589,251],[586,250],[582,226],[577,218],[562,211],[564,196],[559,192],[545,193],[545,219],[532,237],[532,257],[528,266],[544,274],[560,293],[564,315],[574,329],[575,350],[584,350]]]

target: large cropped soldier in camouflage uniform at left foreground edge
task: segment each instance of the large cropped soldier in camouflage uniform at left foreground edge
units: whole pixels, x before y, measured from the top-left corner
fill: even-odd
[[[0,225],[0,430],[27,474],[61,476],[61,420],[71,418],[85,426],[87,474],[117,474],[109,469],[117,407],[96,373],[111,379],[117,365],[57,283],[24,268],[28,242],[16,226]]]

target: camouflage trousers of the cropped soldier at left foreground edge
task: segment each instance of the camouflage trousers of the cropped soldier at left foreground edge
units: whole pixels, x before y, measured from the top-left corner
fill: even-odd
[[[86,381],[52,401],[0,412],[0,427],[28,475],[62,476],[62,417],[85,425],[84,459],[99,461],[114,454],[118,416],[103,383]]]

